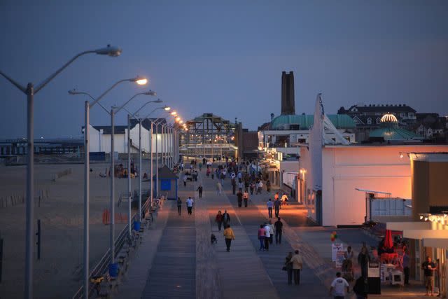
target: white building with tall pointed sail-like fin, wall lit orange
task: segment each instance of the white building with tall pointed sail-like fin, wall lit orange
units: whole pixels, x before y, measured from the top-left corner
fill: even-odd
[[[365,193],[355,188],[411,198],[406,153],[448,152],[448,145],[342,145],[325,139],[321,99],[316,100],[309,144],[300,147],[300,197],[309,217],[321,225],[364,222]]]

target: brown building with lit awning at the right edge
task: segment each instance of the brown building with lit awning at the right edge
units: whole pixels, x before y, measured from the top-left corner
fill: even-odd
[[[410,239],[411,273],[423,280],[421,263],[430,256],[437,263],[436,287],[446,298],[448,281],[448,153],[406,153],[412,169],[412,216],[409,221],[388,222],[386,228],[402,231]]]

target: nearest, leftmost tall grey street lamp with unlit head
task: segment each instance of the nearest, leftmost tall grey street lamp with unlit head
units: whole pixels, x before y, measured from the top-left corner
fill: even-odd
[[[21,90],[27,95],[27,224],[26,224],[26,237],[25,237],[25,298],[32,298],[33,296],[33,222],[34,222],[34,94],[41,90],[45,85],[52,81],[61,71],[69,66],[78,57],[96,53],[99,55],[108,55],[111,57],[117,57],[121,54],[122,50],[117,47],[107,45],[106,48],[100,48],[97,50],[87,50],[79,53],[73,57],[69,62],[66,62],[62,67],[57,69],[48,78],[42,81],[34,88],[33,83],[29,82],[27,88],[20,85],[20,83],[14,81],[12,78],[0,71],[0,75],[6,78],[10,83],[15,85],[16,88]]]

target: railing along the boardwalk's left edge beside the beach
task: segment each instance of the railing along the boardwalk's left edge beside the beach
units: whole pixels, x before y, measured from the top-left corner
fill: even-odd
[[[149,200],[149,198],[146,199],[145,203],[142,206],[142,209],[146,210],[149,207],[151,200]],[[139,219],[139,214],[136,213],[134,214],[134,216],[132,216],[132,221],[131,221],[131,227],[132,230],[134,229],[134,221],[137,221]],[[123,248],[123,245],[126,242],[127,239],[127,225],[125,225],[125,227],[123,228],[123,230],[121,230],[120,235],[118,235],[118,237],[115,240],[115,256],[118,256],[118,253],[120,253],[121,249]],[[97,265],[95,265],[95,267],[93,268],[93,270],[90,272],[90,276],[89,276],[89,281],[91,277],[94,276],[101,276],[102,274],[104,274],[104,272],[106,272],[106,270],[109,267],[109,264],[111,263],[111,249],[107,249],[106,253],[104,253],[104,256],[102,256],[101,260],[99,260],[99,262],[97,263]],[[89,285],[89,296],[92,294],[92,291],[94,289],[94,285],[90,284]],[[73,299],[78,299],[78,298],[83,298],[84,296],[84,286],[81,286],[80,288],[78,288],[78,291],[76,291],[76,293],[73,295]]]

